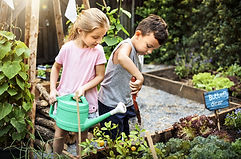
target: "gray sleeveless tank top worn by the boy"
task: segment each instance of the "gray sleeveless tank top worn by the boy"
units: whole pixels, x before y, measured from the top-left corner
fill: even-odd
[[[123,102],[127,107],[133,105],[129,82],[132,75],[120,64],[113,64],[113,54],[123,43],[131,45],[130,59],[141,71],[141,64],[131,39],[120,42],[113,50],[106,67],[105,78],[101,83],[98,100],[106,106],[116,107],[119,102]]]

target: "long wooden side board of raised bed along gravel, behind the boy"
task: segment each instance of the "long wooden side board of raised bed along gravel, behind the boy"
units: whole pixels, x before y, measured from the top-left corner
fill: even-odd
[[[204,90],[193,88],[191,86],[185,85],[178,81],[169,80],[163,77],[158,77],[148,73],[143,73],[144,85],[154,87],[156,89],[161,89],[168,93],[178,95],[183,98],[197,101],[199,103],[204,103],[203,93]]]

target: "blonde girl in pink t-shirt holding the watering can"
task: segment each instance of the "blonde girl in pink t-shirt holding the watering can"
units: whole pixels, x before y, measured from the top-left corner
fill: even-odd
[[[83,10],[73,24],[68,41],[62,46],[50,75],[50,103],[56,96],[76,93],[84,95],[89,103],[89,118],[95,118],[98,108],[97,85],[103,80],[106,58],[99,43],[109,29],[109,20],[97,8]],[[62,76],[56,89],[59,71],[63,67]],[[53,151],[61,154],[67,131],[56,125]],[[88,131],[82,132],[82,141],[87,138]],[[77,142],[78,143],[78,142]],[[77,154],[78,154],[78,147]]]

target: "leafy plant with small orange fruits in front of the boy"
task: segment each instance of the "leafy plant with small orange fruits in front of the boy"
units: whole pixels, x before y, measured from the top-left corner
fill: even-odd
[[[82,154],[90,155],[91,153],[97,153],[98,149],[101,149],[101,153],[107,158],[141,158],[144,155],[150,153],[147,142],[141,133],[145,130],[141,130],[137,125],[136,130],[131,131],[129,136],[125,133],[121,133],[121,136],[115,140],[111,139],[109,135],[106,135],[104,131],[110,131],[117,127],[116,124],[111,122],[105,123],[105,127],[99,129],[96,127],[93,131],[93,138],[82,142],[83,147]]]

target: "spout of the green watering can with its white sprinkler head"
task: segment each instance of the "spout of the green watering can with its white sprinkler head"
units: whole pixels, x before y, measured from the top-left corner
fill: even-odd
[[[116,113],[125,113],[126,112],[126,106],[124,103],[122,102],[119,102],[117,107],[115,109],[113,109],[112,111],[108,112],[108,113],[105,113],[97,118],[94,118],[94,119],[87,119],[85,121],[85,124],[83,126],[83,130],[81,129],[81,131],[84,131],[86,130],[87,128],[91,127],[91,126],[94,126],[95,124],[105,120],[106,118],[108,118],[109,116],[111,115],[114,115]]]

